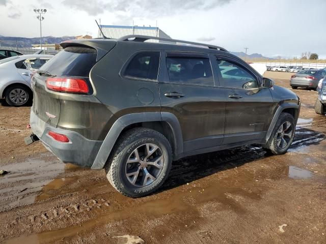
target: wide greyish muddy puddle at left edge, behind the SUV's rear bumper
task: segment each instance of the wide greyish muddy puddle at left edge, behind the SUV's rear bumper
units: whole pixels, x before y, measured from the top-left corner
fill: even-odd
[[[43,154],[4,168],[8,174],[0,176],[0,212],[34,203],[43,187],[65,170],[73,170],[74,166],[60,162],[51,154]],[[52,187],[55,188],[55,185],[52,184]],[[40,196],[42,198],[45,195]]]

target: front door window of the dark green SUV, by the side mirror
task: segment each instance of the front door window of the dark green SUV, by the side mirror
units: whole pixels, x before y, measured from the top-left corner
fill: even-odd
[[[224,86],[231,88],[258,88],[257,79],[246,69],[228,60],[216,59]]]

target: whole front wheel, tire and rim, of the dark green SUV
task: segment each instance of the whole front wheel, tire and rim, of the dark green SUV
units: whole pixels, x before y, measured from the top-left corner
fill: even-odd
[[[281,113],[273,132],[263,148],[274,155],[285,154],[293,141],[294,132],[293,116],[289,113]]]

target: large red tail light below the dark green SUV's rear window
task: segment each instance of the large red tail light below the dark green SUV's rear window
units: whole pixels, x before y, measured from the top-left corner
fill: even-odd
[[[86,81],[77,78],[47,78],[46,87],[56,92],[77,94],[89,93],[89,87]]]

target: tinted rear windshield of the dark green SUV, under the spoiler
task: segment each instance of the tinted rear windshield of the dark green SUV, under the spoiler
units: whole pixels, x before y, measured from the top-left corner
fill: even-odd
[[[88,77],[96,63],[97,51],[93,48],[70,46],[52,57],[41,70],[52,75]]]

